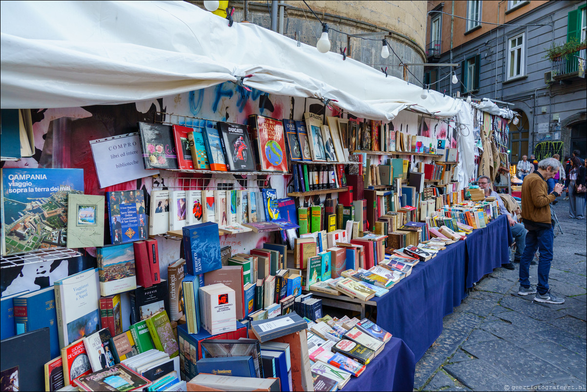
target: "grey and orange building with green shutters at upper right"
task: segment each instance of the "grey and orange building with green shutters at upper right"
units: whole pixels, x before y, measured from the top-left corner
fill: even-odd
[[[453,96],[511,103],[519,115],[510,125],[512,163],[531,153],[563,158],[576,149],[584,158],[585,9],[585,1],[431,0],[424,82]],[[556,56],[566,48],[572,52]],[[450,82],[450,72],[458,83]]]

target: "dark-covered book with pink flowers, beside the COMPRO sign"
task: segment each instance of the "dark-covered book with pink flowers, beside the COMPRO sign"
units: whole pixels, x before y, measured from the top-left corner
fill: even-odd
[[[171,125],[139,122],[145,169],[178,169]]]

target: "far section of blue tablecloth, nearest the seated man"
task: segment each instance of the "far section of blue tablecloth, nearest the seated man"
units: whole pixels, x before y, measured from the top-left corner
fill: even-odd
[[[465,239],[467,246],[467,289],[501,264],[510,262],[511,230],[507,216],[500,215],[483,229],[473,230]]]

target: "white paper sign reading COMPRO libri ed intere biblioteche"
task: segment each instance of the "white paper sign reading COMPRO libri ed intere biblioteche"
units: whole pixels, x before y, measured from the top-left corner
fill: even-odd
[[[90,147],[100,188],[159,173],[145,170],[139,132],[90,140]]]

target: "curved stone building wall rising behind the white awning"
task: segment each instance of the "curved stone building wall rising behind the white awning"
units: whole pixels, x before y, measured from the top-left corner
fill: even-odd
[[[189,1],[204,7],[203,1]],[[221,2],[222,3],[222,2]],[[245,17],[244,1],[229,1],[234,6],[234,20],[248,21],[264,28],[271,28],[271,3],[247,1]],[[278,3],[278,2],[275,2]],[[309,8],[299,0],[279,1],[283,9],[282,22],[276,31],[289,38],[316,46],[322,33],[322,25]],[[318,17],[328,24],[330,51],[340,53],[346,48],[350,58],[375,69],[386,69],[387,74],[421,85],[424,66],[409,66],[409,72],[393,53],[386,59],[381,56],[382,39],[386,38],[403,63],[426,62],[426,1],[306,1]],[[281,30],[282,26],[282,31]],[[381,33],[385,32],[384,35]],[[374,34],[376,33],[376,34]],[[363,35],[367,39],[349,36]],[[372,41],[371,39],[376,39]],[[259,48],[262,50],[262,48]],[[410,73],[411,72],[411,73]],[[357,75],[357,77],[360,77]]]

